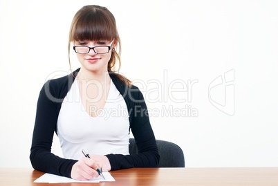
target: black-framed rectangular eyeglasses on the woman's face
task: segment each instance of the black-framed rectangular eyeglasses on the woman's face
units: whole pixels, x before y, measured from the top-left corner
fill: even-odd
[[[73,46],[73,50],[75,50],[75,53],[78,54],[87,54],[90,52],[91,49],[97,54],[106,54],[109,53],[111,50],[111,47],[113,45],[113,41],[111,43],[111,46]]]

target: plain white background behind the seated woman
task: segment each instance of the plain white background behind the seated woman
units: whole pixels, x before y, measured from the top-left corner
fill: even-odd
[[[186,167],[278,166],[278,1],[10,0],[0,2],[0,167],[31,167],[39,91],[68,73],[68,29],[87,4],[113,12],[120,73]]]

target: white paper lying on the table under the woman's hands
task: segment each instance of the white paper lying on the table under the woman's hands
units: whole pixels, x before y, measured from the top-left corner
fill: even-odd
[[[93,180],[73,180],[71,178],[67,178],[64,176],[57,176],[55,174],[44,174],[37,178],[34,183],[99,183],[103,181],[115,181],[113,176],[108,171],[102,172],[104,178],[102,176],[98,176],[98,178],[93,178]]]

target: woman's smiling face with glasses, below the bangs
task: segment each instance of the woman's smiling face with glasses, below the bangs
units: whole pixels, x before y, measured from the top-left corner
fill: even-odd
[[[77,59],[83,68],[88,71],[107,71],[107,65],[111,58],[113,41],[75,41],[73,43],[75,51],[77,52]],[[89,46],[89,48],[82,47]],[[95,48],[91,48],[95,47]],[[110,47],[110,49],[109,49]],[[89,53],[88,53],[89,50]]]

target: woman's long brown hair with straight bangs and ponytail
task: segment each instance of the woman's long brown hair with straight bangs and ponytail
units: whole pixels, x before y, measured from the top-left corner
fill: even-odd
[[[71,68],[70,49],[71,41],[83,40],[108,40],[118,42],[117,50],[112,50],[111,58],[109,59],[107,71],[115,73],[115,64],[118,59],[118,68],[120,69],[121,60],[121,43],[118,29],[116,26],[115,17],[103,6],[89,5],[83,6],[78,10],[71,22],[71,28],[68,38],[68,62]],[[130,85],[131,81],[123,75],[115,73],[120,80]]]

